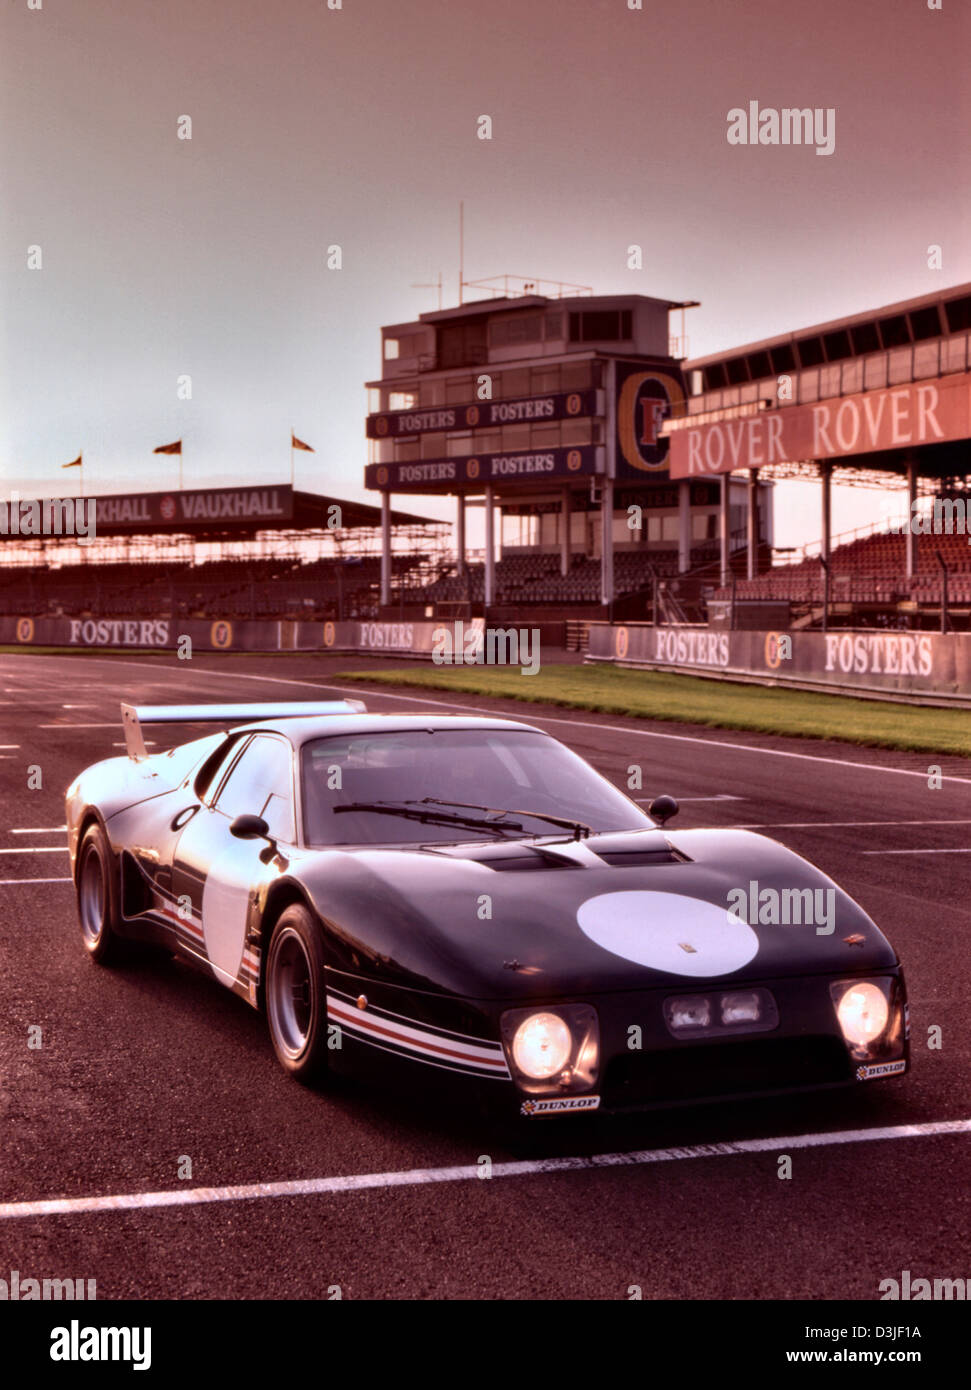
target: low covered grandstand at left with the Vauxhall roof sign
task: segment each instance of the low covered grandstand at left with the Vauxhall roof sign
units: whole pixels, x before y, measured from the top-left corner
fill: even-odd
[[[133,493],[96,499],[97,537],[13,537],[0,545],[1,617],[308,619],[378,612],[381,513],[289,488],[235,489],[272,502],[249,516],[193,499],[233,493]],[[181,503],[176,507],[175,503]],[[332,507],[340,525],[328,525]],[[182,516],[179,517],[179,510]],[[231,510],[231,509],[225,509]],[[190,513],[193,520],[188,520]],[[272,513],[272,514],[271,514]],[[132,520],[138,518],[138,520]],[[399,584],[421,588],[447,567],[447,525],[413,513],[390,517]]]

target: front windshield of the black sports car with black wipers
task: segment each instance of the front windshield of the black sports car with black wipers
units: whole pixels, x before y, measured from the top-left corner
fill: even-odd
[[[547,734],[528,730],[335,735],[306,744],[301,764],[308,845],[454,844],[570,834],[542,816],[595,831],[653,828],[653,821],[582,758]],[[407,813],[395,815],[393,808]],[[510,816],[496,815],[503,810]]]

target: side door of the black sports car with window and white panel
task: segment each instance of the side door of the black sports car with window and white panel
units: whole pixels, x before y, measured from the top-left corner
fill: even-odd
[[[281,855],[267,840],[229,833],[242,815],[263,816],[279,845],[293,844],[293,751],[279,734],[250,738],[188,820],[175,849],[175,895],[189,898],[210,965],[228,986],[238,981],[243,963],[250,902],[281,873]]]

